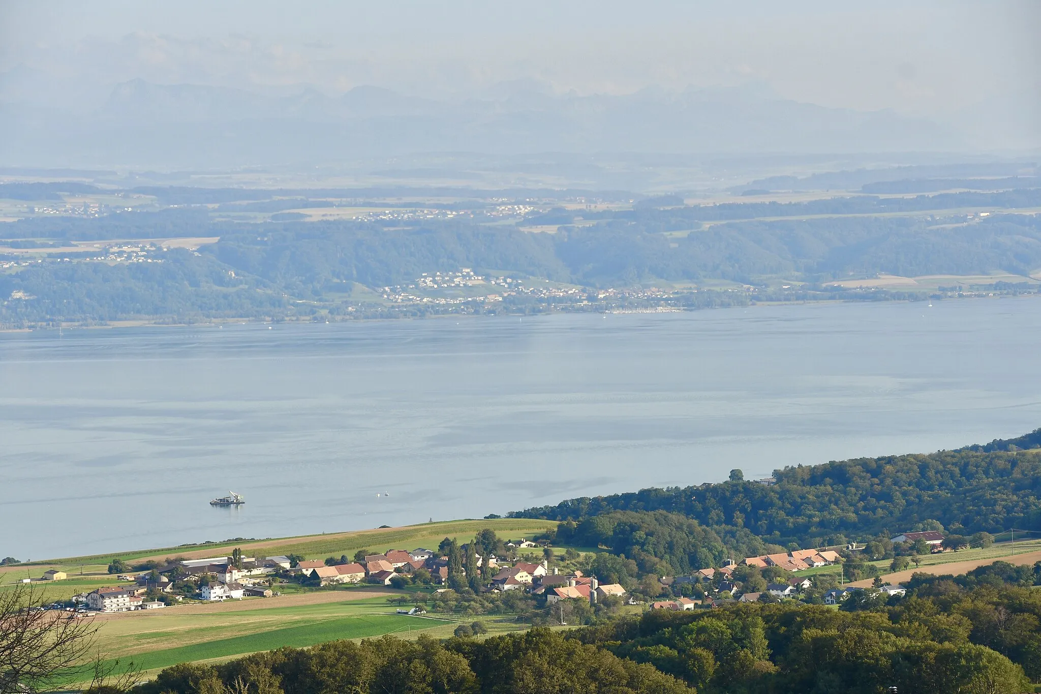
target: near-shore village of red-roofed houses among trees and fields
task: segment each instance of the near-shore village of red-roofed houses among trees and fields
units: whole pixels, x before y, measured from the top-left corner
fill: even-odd
[[[942,551],[943,540],[944,536],[935,531],[904,533],[893,538],[897,542],[919,543],[929,551]],[[605,583],[577,568],[562,571],[551,562],[552,549],[537,542],[527,539],[507,541],[501,548],[505,548],[514,558],[513,561],[504,561],[492,552],[482,556],[474,551],[476,566],[483,579],[480,590],[488,593],[519,591],[547,608],[562,600],[582,600],[591,605],[607,600],[612,605],[625,602],[653,610],[693,610],[731,602],[797,599],[815,585],[811,576],[799,575],[801,572],[843,562],[838,551],[826,548],[746,557],[740,562],[725,560],[719,567],[699,569],[690,575],[645,577],[638,591],[633,589],[631,594],[618,583]],[[847,549],[856,551],[858,547],[850,545]],[[462,552],[467,550],[466,544],[460,547]],[[532,550],[540,550],[547,558],[534,561],[536,555]],[[846,554],[848,556],[848,551]],[[116,579],[122,585],[79,593],[68,605],[53,607],[96,613],[159,610],[185,601],[222,602],[272,597],[280,594],[280,587],[289,586],[320,589],[364,584],[401,589],[416,584],[429,585],[436,594],[451,590],[451,563],[448,554],[424,547],[390,549],[382,554],[359,550],[353,560],[346,556],[325,560],[298,556],[244,557],[235,549],[227,557],[178,558],[166,564],[152,562],[149,566],[138,567],[144,569],[139,572],[118,573]],[[117,563],[113,567],[129,568]],[[458,566],[456,570],[465,577],[464,567]],[[65,572],[51,569],[41,579],[22,581],[54,582],[67,577]],[[649,583],[649,579],[653,581]],[[887,595],[903,595],[906,592],[899,585],[879,584],[874,587]],[[823,602],[838,605],[855,590],[858,589],[833,588],[823,593]],[[666,599],[654,599],[662,596]]]

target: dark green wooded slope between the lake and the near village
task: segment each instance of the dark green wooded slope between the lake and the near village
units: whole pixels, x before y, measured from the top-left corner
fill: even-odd
[[[754,546],[741,537],[812,547],[895,535],[926,522],[959,534],[1041,531],[1038,447],[1041,430],[959,451],[786,467],[769,484],[735,474],[718,484],[573,498],[510,515],[573,521],[583,541],[610,546],[627,522],[621,512],[664,512],[729,535],[735,550]]]

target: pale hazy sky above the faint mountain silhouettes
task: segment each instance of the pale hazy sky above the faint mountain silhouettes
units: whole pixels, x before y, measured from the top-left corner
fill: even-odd
[[[1041,142],[1039,33],[1035,0],[0,0],[0,102],[92,108],[133,78],[433,97],[751,84]]]

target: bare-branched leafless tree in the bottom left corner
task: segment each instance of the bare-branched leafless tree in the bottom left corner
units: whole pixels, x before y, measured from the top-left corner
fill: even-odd
[[[46,594],[25,584],[0,591],[0,694],[54,688],[86,675],[98,626],[76,613],[43,609]]]

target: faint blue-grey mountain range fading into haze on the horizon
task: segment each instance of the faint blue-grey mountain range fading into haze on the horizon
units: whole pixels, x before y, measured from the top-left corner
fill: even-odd
[[[953,151],[957,135],[893,111],[827,108],[755,86],[554,94],[510,82],[429,99],[377,86],[272,96],[199,84],[117,84],[100,106],[14,99],[0,79],[0,165],[242,166],[413,152],[821,153]]]

